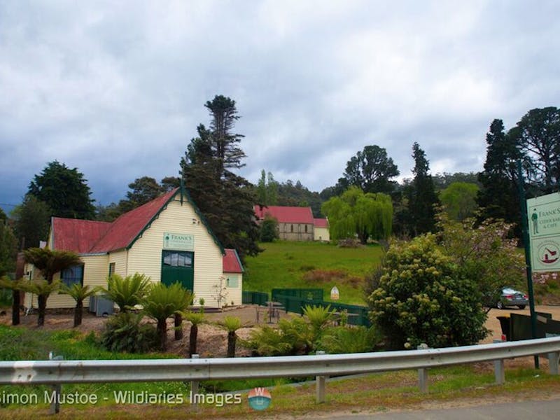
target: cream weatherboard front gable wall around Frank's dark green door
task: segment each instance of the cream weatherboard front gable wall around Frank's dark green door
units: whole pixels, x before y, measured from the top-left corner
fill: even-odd
[[[195,223],[193,223],[195,221]],[[194,237],[194,293],[195,304],[204,298],[208,307],[216,307],[216,288],[222,273],[222,258],[220,248],[211,237],[207,228],[200,222],[193,207],[185,200],[181,205],[179,197],[167,204],[159,217],[151,226],[144,230],[141,237],[134,242],[129,250],[128,271],[141,272],[151,278],[153,282],[161,281],[162,249],[165,232]],[[235,302],[241,304],[241,298]]]

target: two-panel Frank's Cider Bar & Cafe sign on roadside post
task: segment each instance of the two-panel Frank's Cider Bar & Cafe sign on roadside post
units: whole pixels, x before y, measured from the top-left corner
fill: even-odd
[[[560,193],[528,199],[527,218],[533,271],[560,271]]]

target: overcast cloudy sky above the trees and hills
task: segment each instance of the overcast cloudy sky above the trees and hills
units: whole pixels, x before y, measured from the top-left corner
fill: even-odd
[[[559,1],[0,0],[0,203],[52,160],[97,203],[178,174],[216,94],[247,154],[310,190],[376,144],[478,172],[494,118],[558,106]]]

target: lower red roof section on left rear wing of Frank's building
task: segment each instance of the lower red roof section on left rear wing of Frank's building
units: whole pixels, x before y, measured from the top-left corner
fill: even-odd
[[[111,223],[52,218],[54,248],[75,253],[88,253],[90,248],[111,228]]]

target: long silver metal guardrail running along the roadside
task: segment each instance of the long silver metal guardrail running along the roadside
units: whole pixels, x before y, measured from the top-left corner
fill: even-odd
[[[94,382],[204,381],[211,379],[316,376],[318,401],[324,400],[324,377],[331,375],[419,370],[426,391],[430,367],[496,360],[496,381],[503,382],[503,360],[545,354],[551,374],[559,374],[560,337],[475,346],[256,358],[152,360],[36,360],[0,362],[0,384],[79,384]],[[501,370],[501,371],[499,371]],[[322,385],[321,385],[322,384]]]

